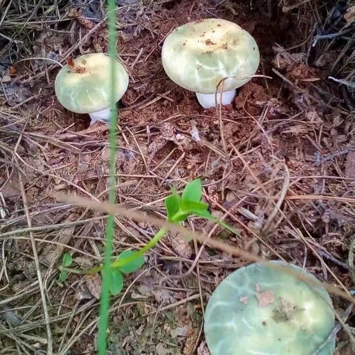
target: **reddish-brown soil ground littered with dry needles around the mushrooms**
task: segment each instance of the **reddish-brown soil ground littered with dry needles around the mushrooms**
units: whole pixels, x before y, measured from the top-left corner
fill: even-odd
[[[229,244],[304,265],[322,281],[354,288],[353,265],[347,261],[355,214],[351,149],[355,120],[349,94],[344,96],[342,89],[329,82],[328,67],[313,65],[321,55],[319,47],[312,54],[313,62],[310,57],[304,59],[311,48],[307,38],[313,25],[306,10],[313,5],[297,7],[295,11],[302,14],[297,18],[295,12],[284,13],[277,1],[261,1],[252,9],[249,2],[146,1],[139,8],[127,5],[119,12],[118,47],[130,85],[118,116],[117,202],[164,216],[163,200],[171,186],[181,190],[187,181],[200,177],[213,215],[227,213],[225,221],[240,236],[221,228],[213,231],[213,224],[199,218],[191,220],[195,230],[212,231]],[[90,20],[88,7],[74,7],[61,9],[68,10],[73,34],[65,22],[60,22],[58,32],[38,31],[38,39],[21,56],[54,53],[62,61],[68,51],[71,57],[105,52],[106,25],[94,31],[98,20]],[[195,94],[172,82],[161,65],[165,36],[179,25],[206,17],[222,17],[249,31],[262,59],[257,74],[264,77],[253,78],[234,103],[220,111],[204,110]],[[86,37],[89,31],[94,32]],[[33,235],[50,317],[65,315],[53,320],[54,348],[60,347],[59,354],[64,355],[65,345],[71,344],[73,355],[95,354],[97,329],[95,321],[90,322],[98,314],[99,301],[77,298],[78,290],[87,294],[78,275],[59,283],[57,263],[67,250],[74,251],[73,257],[80,257],[80,262],[97,264],[104,251],[106,219],[94,211],[60,205],[51,193],[108,199],[108,128],[104,123],[89,126],[87,115],[68,112],[58,103],[54,93],[58,67],[40,60],[23,61],[12,72],[16,74],[10,69],[4,73],[10,80],[3,82],[7,95],[1,96],[0,191],[4,199],[0,209],[4,214],[0,233],[29,227],[29,213],[32,227],[38,227]],[[192,130],[198,131],[199,142],[192,139]],[[73,221],[79,222],[68,227]],[[51,228],[58,223],[67,228]],[[141,247],[154,232],[155,226],[121,218],[115,252]],[[26,295],[26,287],[37,280],[30,235],[24,229],[16,236],[2,244],[7,258],[2,270],[9,278],[0,272],[0,289],[3,298],[20,292],[22,296],[11,307],[36,305],[28,317],[32,322],[43,320],[38,289]],[[204,348],[200,327],[205,304],[199,293],[206,301],[229,272],[248,261],[209,247],[199,253],[199,244],[180,237],[169,235],[148,253],[143,270],[151,267],[150,271],[128,277],[123,290],[131,285],[128,294],[113,300],[117,308],[111,313],[112,354],[187,355]],[[181,276],[197,256],[197,266]],[[177,302],[181,304],[175,307]],[[347,306],[341,298],[335,297],[334,302],[340,309]],[[23,317],[26,312],[19,309],[17,314]],[[44,326],[31,324],[29,335],[35,332],[46,338]],[[12,341],[6,338],[4,346],[14,347]],[[46,348],[40,342],[30,346]]]

